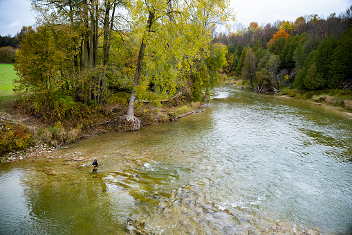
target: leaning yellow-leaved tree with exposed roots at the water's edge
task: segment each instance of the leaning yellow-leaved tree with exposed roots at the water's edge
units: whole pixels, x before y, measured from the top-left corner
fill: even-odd
[[[150,83],[158,87],[159,97],[185,85],[187,71],[209,53],[211,26],[232,18],[227,12],[229,3],[228,0],[129,1],[132,27],[140,37],[133,88],[127,114],[123,116],[129,130],[140,128],[140,121],[134,116],[136,97]]]

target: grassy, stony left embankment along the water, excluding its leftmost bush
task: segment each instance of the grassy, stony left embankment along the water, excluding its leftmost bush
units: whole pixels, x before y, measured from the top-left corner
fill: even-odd
[[[178,118],[204,111],[201,107],[204,103],[189,103],[187,105],[172,105],[154,107],[153,105],[142,105],[136,109],[135,115],[140,119],[141,126],[155,125],[157,123],[165,123],[176,121]],[[109,109],[110,114],[100,116],[95,119],[95,123],[84,125],[82,128],[71,128],[66,126],[50,126],[43,123],[36,116],[28,116],[21,110],[13,110],[9,107],[0,107],[0,122],[13,123],[15,125],[24,126],[30,130],[33,137],[34,145],[26,148],[26,150],[11,150],[10,153],[1,156],[0,162],[3,164],[21,161],[25,158],[36,159],[38,157],[55,157],[55,150],[71,143],[75,143],[80,139],[86,139],[104,134],[107,132],[115,132],[115,119],[122,114],[123,107],[118,109]],[[0,124],[1,124],[0,123]],[[71,137],[68,136],[71,134]]]

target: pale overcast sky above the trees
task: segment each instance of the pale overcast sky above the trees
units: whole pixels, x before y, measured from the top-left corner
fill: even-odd
[[[237,13],[237,23],[248,26],[255,21],[260,25],[279,20],[295,21],[298,17],[317,14],[327,17],[337,15],[352,5],[352,0],[231,0]],[[35,23],[28,0],[0,0],[0,35],[12,37],[22,26]]]

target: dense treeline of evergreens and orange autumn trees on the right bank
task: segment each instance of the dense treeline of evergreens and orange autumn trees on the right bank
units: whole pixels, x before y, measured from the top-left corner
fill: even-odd
[[[264,27],[252,22],[237,33],[217,35],[214,42],[228,47],[223,71],[259,92],[352,85],[352,6],[326,19],[307,15]]]

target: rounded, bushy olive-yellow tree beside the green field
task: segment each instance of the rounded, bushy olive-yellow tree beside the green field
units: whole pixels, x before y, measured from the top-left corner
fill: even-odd
[[[48,95],[62,85],[64,81],[60,79],[60,71],[67,57],[65,51],[61,51],[61,48],[58,49],[54,44],[53,37],[52,31],[45,26],[37,28],[37,31],[28,28],[15,64],[18,76],[15,79],[17,91],[27,90]]]

